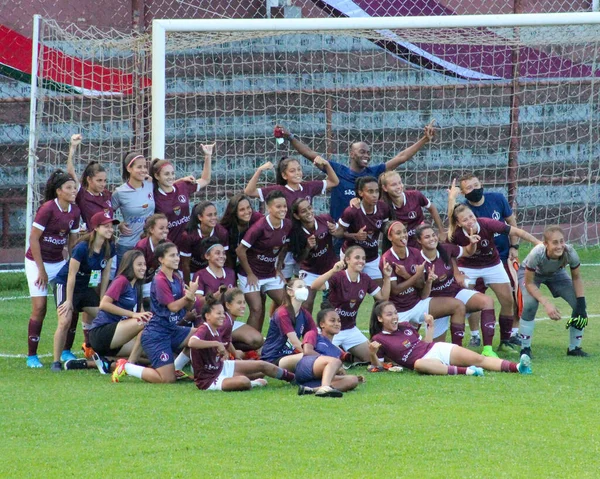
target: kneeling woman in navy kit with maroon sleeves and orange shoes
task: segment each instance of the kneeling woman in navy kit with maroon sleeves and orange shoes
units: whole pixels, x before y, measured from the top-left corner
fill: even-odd
[[[160,271],[152,280],[150,304],[152,318],[142,332],[142,347],[150,360],[151,368],[145,368],[119,359],[112,375],[113,382],[119,382],[129,374],[149,383],[174,383],[177,372],[188,362],[189,357],[182,351],[174,358],[174,350],[188,345],[188,340],[196,331],[193,328],[178,326],[188,309],[194,306],[198,283],[189,286],[177,272],[179,252],[173,243],[161,243],[155,250]],[[180,373],[181,374],[181,373]]]

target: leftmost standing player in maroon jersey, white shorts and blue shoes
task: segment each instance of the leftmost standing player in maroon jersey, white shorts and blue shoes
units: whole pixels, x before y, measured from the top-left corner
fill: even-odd
[[[37,356],[48,304],[48,283],[65,265],[63,250],[71,252],[79,233],[77,187],[71,175],[56,170],[46,183],[45,202],[35,214],[25,254],[25,275],[31,296],[27,367],[41,368]]]

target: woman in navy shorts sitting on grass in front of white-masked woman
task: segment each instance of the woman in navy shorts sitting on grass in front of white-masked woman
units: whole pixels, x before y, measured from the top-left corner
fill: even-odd
[[[296,365],[298,395],[314,394],[318,397],[342,397],[364,382],[363,376],[347,376],[342,368],[342,358],[350,353],[333,344],[333,337],[342,329],[340,315],[333,308],[317,314],[321,334],[311,330],[304,335],[304,356]]]

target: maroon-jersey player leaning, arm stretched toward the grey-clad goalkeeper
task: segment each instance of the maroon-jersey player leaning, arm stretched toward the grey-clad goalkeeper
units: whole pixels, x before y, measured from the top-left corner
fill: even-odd
[[[514,321],[513,295],[510,279],[506,274],[500,260],[500,254],[494,243],[496,233],[518,236],[533,245],[541,243],[522,229],[491,218],[475,217],[475,214],[467,205],[458,205],[452,210],[448,237],[453,244],[465,246],[469,242],[469,235],[476,234],[480,237],[475,253],[468,258],[458,259],[460,271],[465,275],[469,286],[475,286],[477,279],[482,278],[485,286],[489,286],[498,298],[500,302],[500,315],[498,317],[500,345],[506,345],[507,349],[511,351],[512,346],[508,341],[510,340]],[[486,318],[484,323],[482,313],[481,335],[484,345],[487,344],[489,348],[491,348],[495,324],[494,317]]]

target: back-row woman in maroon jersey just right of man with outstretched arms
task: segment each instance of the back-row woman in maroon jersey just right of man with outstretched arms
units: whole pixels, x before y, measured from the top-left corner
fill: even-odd
[[[423,193],[417,190],[405,190],[402,178],[397,171],[385,171],[379,175],[379,198],[390,207],[390,217],[401,221],[408,232],[408,246],[418,248],[415,239],[417,226],[425,221],[423,208],[429,211],[433,222],[440,232],[440,239],[445,241],[444,225],[435,205]],[[389,245],[384,243],[383,250]]]

